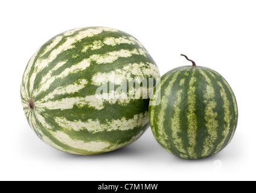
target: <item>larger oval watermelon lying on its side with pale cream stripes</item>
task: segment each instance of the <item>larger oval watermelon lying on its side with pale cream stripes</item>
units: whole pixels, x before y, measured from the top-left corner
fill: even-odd
[[[105,153],[136,141],[149,126],[149,97],[130,97],[145,88],[133,84],[143,78],[159,78],[159,71],[135,37],[77,28],[48,40],[30,59],[22,104],[30,127],[47,144],[73,154]],[[130,82],[126,92],[116,92]]]

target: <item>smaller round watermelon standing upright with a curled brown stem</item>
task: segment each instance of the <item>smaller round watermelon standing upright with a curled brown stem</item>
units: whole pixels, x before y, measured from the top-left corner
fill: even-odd
[[[153,134],[175,156],[211,156],[234,136],[238,119],[235,95],[227,81],[210,68],[194,62],[175,68],[161,77],[152,96],[149,119]]]

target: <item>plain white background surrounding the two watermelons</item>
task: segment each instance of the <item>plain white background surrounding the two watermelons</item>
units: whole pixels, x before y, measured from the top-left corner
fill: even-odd
[[[255,1],[1,1],[0,180],[256,180]],[[172,156],[150,128],[125,148],[97,156],[56,150],[25,118],[19,86],[46,40],[77,27],[112,27],[135,36],[161,75],[191,63],[225,77],[237,98],[234,139],[202,160]]]

